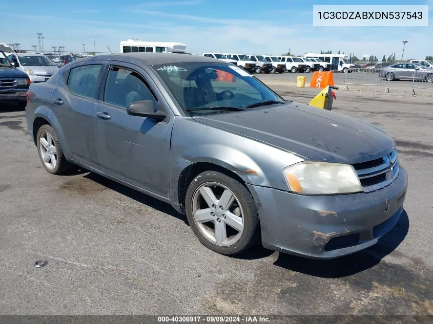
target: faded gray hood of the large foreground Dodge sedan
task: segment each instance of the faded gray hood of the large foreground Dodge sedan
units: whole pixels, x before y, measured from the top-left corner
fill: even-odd
[[[314,161],[360,163],[389,154],[395,145],[366,122],[295,102],[193,118]]]

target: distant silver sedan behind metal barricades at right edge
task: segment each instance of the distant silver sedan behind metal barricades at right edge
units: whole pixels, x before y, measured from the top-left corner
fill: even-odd
[[[397,63],[379,70],[379,77],[386,80],[421,80],[433,82],[433,71],[414,63]]]

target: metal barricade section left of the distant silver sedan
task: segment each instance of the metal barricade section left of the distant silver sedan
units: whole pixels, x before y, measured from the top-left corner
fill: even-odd
[[[349,85],[374,85],[385,87],[384,93],[389,93],[389,80],[381,76],[380,71],[381,69],[348,69],[344,89],[349,90]]]

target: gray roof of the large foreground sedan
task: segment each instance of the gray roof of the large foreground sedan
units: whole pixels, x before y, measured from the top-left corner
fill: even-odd
[[[187,62],[221,62],[211,57],[205,57],[201,55],[181,55],[176,53],[114,53],[81,58],[80,60],[83,62],[87,60],[92,61],[107,59],[120,61],[139,60],[148,66]]]

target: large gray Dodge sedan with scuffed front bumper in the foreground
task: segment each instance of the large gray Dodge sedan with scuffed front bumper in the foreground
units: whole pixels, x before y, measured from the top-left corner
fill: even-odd
[[[78,165],[167,202],[218,253],[261,240],[339,257],[374,245],[403,210],[407,174],[380,128],[285,101],[220,60],[95,56],[31,84],[28,98],[48,172]]]

